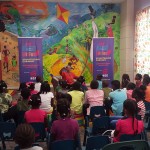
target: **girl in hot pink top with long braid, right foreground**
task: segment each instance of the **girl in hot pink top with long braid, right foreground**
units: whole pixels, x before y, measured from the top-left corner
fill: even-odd
[[[123,103],[124,118],[117,121],[114,132],[114,142],[120,141],[123,134],[140,134],[144,130],[144,124],[141,120],[136,119],[137,104],[135,101],[127,99]]]

